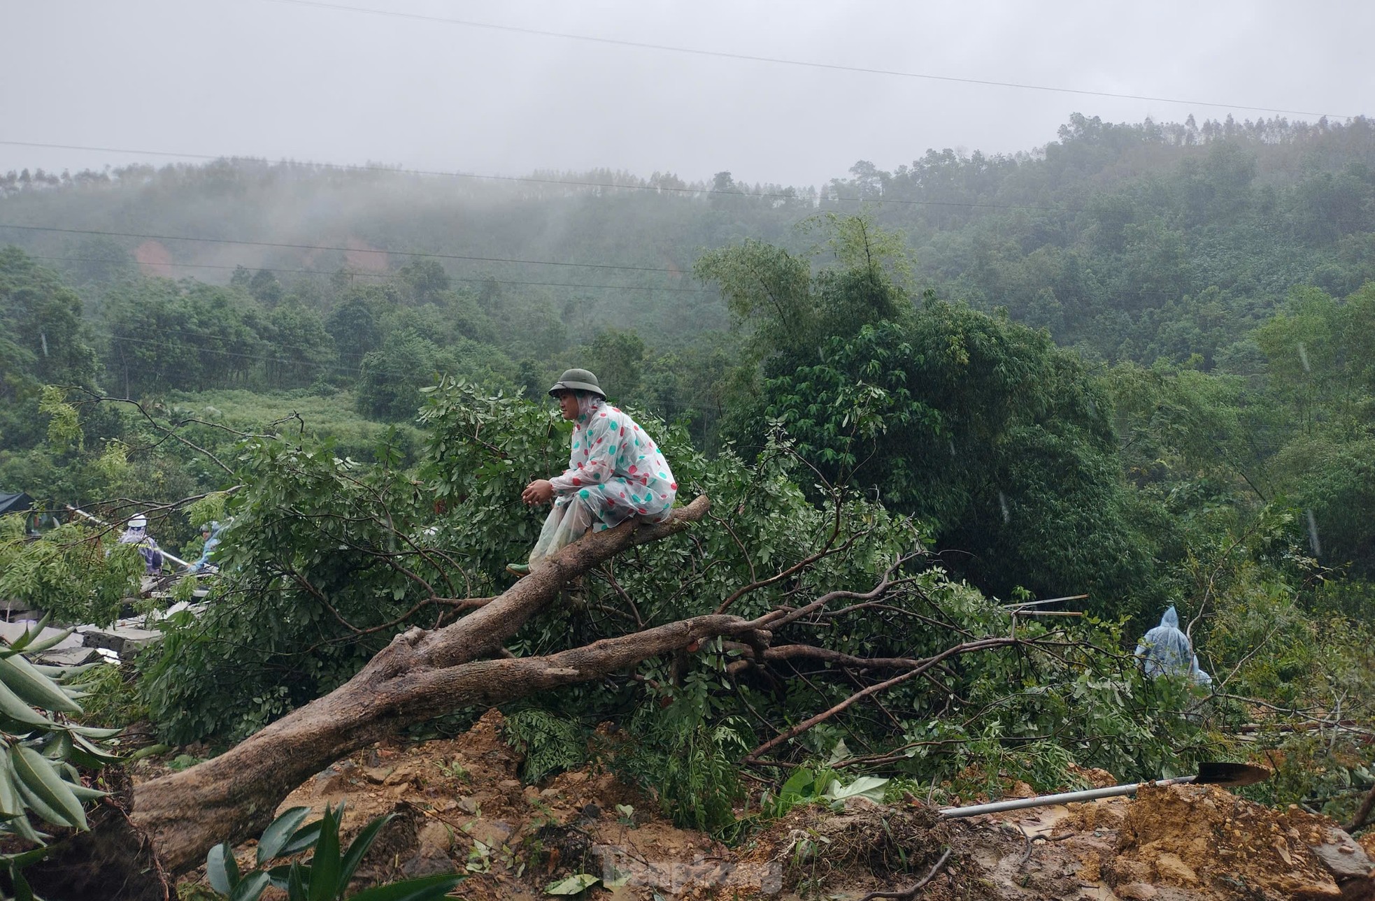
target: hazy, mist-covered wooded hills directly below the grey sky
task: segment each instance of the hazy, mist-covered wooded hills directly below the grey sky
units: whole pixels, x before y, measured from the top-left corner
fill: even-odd
[[[1364,118],[1198,126],[1075,115],[1026,154],[928,150],[891,170],[861,161],[820,190],[741,185],[729,173],[711,184],[613,172],[484,180],[217,161],[10,173],[0,198],[0,223],[73,229],[0,227],[0,242],[94,284],[88,301],[135,272],[226,284],[246,266],[279,271],[327,315],[329,282],[305,273],[346,269],[371,283],[433,260],[456,291],[525,309],[522,331],[561,332],[518,352],[539,354],[608,326],[656,346],[719,330],[720,304],[690,276],[701,250],[744,238],[806,247],[799,221],[861,203],[905,229],[917,287],[1005,306],[1108,360],[1198,353],[1204,368],[1225,364],[1292,286],[1342,295],[1375,277],[1375,130]]]

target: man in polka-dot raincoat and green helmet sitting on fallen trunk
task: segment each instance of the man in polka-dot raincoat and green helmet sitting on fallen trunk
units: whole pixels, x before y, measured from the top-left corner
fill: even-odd
[[[521,492],[531,507],[554,501],[528,563],[506,569],[528,575],[560,548],[638,516],[642,522],[668,519],[678,496],[668,461],[659,445],[627,413],[606,402],[597,376],[568,369],[549,389],[564,419],[576,423],[568,468],[562,475],[535,479]]]

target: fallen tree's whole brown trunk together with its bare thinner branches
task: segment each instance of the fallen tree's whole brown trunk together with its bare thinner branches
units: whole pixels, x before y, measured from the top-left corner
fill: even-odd
[[[872,681],[843,700],[777,733],[752,750],[747,764],[760,764],[770,751],[830,720],[852,705],[934,670],[961,655],[1008,647],[1063,651],[1075,647],[1056,635],[967,636],[923,658],[864,658],[829,648],[786,644],[770,647],[774,629],[810,621],[825,624],[835,614],[852,614],[870,603],[909,588],[913,577],[899,569],[918,555],[899,558],[868,592],[833,591],[803,606],[774,606],[748,618],[726,613],[688,617],[664,625],[602,639],[554,654],[517,658],[503,654],[502,643],[521,625],[554,602],[564,586],[617,554],[672,536],[708,512],[705,496],[676,510],[656,526],[626,523],[584,537],[553,558],[547,566],[517,581],[456,622],[441,629],[412,628],[396,636],[353,678],[336,691],[300,707],[227,753],[138,786],[129,820],[144,834],[158,860],[170,872],[184,872],[201,863],[221,841],[239,842],[271,821],[282,799],[309,776],[341,757],[380,739],[395,736],[407,725],[465,707],[485,707],[573,683],[586,683],[623,672],[659,655],[697,650],[705,640],[730,636],[748,648],[738,663],[767,666],[770,661],[813,659],[847,670],[898,674]],[[781,575],[815,566],[836,551],[832,533],[810,558],[756,580],[734,592],[722,608],[747,593],[774,584]],[[839,610],[828,604],[855,600]],[[954,637],[960,629],[954,628]],[[741,668],[737,666],[737,672]],[[881,706],[881,705],[880,705]]]

